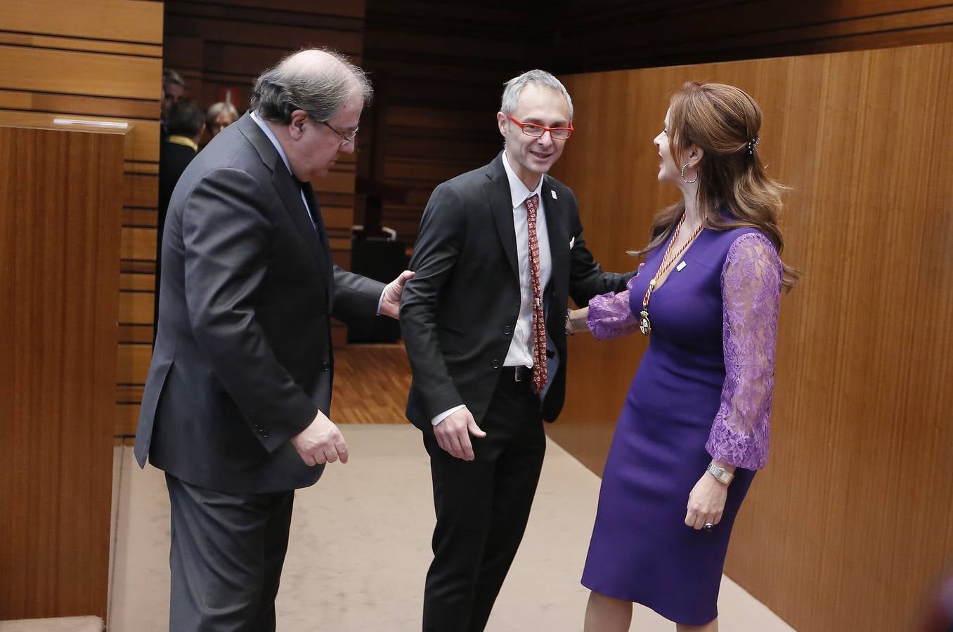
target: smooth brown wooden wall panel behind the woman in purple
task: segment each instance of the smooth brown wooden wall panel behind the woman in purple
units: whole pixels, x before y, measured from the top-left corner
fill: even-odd
[[[953,45],[568,77],[584,131],[554,175],[610,269],[634,267],[624,250],[675,199],[652,139],[688,79],[760,102],[758,150],[792,187],[784,258],[804,273],[781,299],[771,455],[726,571],[799,630],[907,629],[953,555]],[[549,430],[597,472],[644,348],[571,341]]]

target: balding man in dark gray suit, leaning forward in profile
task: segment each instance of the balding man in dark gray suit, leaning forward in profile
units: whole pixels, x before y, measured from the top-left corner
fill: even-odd
[[[176,632],[274,630],[294,489],[347,462],[330,318],[395,317],[411,273],[333,266],[310,181],[354,151],[370,96],[343,57],[297,52],[172,193],[135,454],[166,472]]]

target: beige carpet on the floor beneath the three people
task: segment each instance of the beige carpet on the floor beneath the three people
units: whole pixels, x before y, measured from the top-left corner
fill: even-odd
[[[300,491],[277,598],[288,632],[413,632],[434,525],[430,468],[411,425],[342,425],[351,463],[330,465]],[[116,448],[120,481],[110,630],[166,630],[169,497],[158,470]],[[588,591],[579,584],[596,513],[598,477],[550,442],[536,504],[488,632],[577,632]],[[792,628],[736,583],[721,584],[720,628]],[[675,625],[636,606],[639,632]]]

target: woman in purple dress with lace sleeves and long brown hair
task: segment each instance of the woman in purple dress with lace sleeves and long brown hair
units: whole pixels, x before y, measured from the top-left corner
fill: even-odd
[[[760,124],[731,86],[672,97],[655,144],[659,181],[683,199],[659,213],[628,290],[571,314],[598,339],[649,336],[602,475],[588,632],[628,630],[632,602],[679,630],[718,629],[731,527],[767,460],[781,286],[798,277],[779,258],[782,187]]]

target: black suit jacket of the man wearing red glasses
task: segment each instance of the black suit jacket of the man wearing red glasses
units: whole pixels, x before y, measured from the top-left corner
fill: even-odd
[[[482,420],[513,340],[519,268],[502,161],[500,153],[437,187],[421,220],[400,328],[414,373],[407,417],[427,432],[437,414],[456,405],[466,405],[477,424]],[[541,405],[543,419],[552,422],[566,390],[568,297],[585,306],[597,294],[624,289],[632,273],[603,272],[593,260],[571,189],[543,176],[542,198],[553,269],[543,290],[552,359]]]

